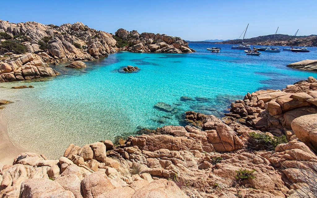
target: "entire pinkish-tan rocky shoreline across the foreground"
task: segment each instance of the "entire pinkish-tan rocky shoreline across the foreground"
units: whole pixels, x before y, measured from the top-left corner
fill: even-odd
[[[1,197],[316,196],[317,81],[248,93],[231,113],[186,112],[121,144],[70,144],[63,157],[24,152],[3,166]]]

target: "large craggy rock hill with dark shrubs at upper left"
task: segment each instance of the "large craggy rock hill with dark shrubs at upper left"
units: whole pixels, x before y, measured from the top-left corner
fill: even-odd
[[[55,26],[37,22],[15,24],[0,20],[0,32],[17,39],[26,38],[24,40],[27,41],[20,40],[29,51],[46,53],[49,62],[93,60],[118,50],[111,34],[89,28],[81,22]]]

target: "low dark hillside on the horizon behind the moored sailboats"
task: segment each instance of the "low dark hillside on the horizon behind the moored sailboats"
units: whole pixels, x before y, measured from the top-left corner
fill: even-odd
[[[243,42],[251,43],[251,45],[275,45],[285,46],[290,45],[293,42],[293,46],[317,46],[317,35],[312,34],[309,36],[295,36],[292,41],[292,36],[286,34],[270,34],[266,36],[258,36],[250,39],[244,39]],[[239,40],[227,40],[217,42],[219,44],[238,44],[241,43],[242,39]]]

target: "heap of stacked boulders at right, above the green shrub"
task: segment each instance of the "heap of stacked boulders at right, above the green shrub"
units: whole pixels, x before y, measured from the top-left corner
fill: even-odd
[[[308,77],[283,90],[259,90],[231,104],[231,118],[243,124],[288,139],[294,134],[295,118],[317,113],[317,81]]]

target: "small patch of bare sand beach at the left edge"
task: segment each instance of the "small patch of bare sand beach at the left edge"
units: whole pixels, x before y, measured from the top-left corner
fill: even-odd
[[[2,170],[3,165],[12,164],[14,158],[21,152],[26,152],[26,150],[15,146],[9,137],[7,123],[3,118],[2,109],[0,109],[0,170]]]

